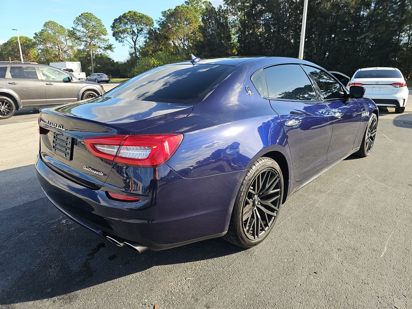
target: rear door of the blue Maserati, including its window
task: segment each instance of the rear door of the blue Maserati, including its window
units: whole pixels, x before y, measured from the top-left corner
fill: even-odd
[[[264,70],[269,99],[286,133],[297,182],[326,166],[332,114],[298,64]]]

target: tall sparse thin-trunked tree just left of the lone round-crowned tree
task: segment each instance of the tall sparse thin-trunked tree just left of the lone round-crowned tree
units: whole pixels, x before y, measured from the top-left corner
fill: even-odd
[[[74,21],[73,37],[91,52],[91,67],[93,71],[93,53],[113,50],[113,45],[105,38],[107,29],[94,14],[86,12],[77,16]]]

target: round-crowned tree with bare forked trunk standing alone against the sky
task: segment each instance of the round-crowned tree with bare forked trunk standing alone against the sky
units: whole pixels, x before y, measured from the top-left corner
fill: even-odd
[[[113,37],[117,42],[133,49],[134,64],[138,59],[138,42],[153,27],[153,19],[145,14],[129,11],[117,17],[112,23]]]

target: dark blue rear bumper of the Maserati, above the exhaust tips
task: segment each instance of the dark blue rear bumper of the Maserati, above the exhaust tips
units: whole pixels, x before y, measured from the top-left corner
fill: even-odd
[[[224,235],[243,176],[233,172],[187,179],[176,174],[159,184],[156,202],[152,195],[127,203],[109,199],[105,187],[92,190],[64,178],[39,158],[35,166],[45,194],[68,217],[102,237],[112,234],[152,250]]]

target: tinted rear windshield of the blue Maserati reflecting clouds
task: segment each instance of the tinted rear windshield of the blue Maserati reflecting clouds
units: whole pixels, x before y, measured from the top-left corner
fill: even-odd
[[[103,96],[191,104],[203,98],[233,68],[218,64],[161,66],[133,77]]]

